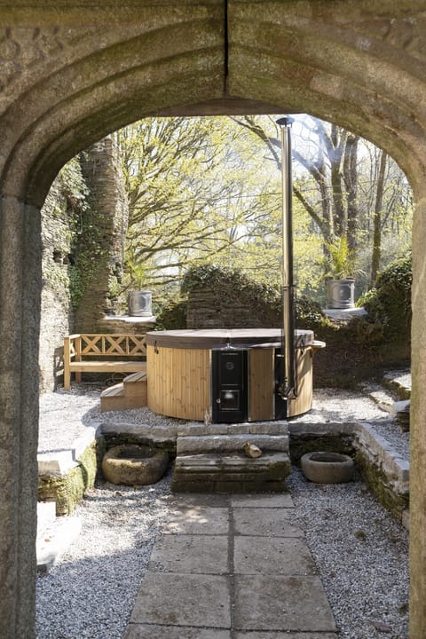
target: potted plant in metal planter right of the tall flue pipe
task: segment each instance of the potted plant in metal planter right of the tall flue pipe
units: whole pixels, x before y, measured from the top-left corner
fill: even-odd
[[[328,309],[355,308],[355,256],[346,235],[326,242],[326,300]]]

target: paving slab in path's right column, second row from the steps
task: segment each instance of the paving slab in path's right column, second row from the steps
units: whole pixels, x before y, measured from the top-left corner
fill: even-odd
[[[303,537],[304,531],[291,522],[292,512],[293,509],[234,509],[235,533],[255,537]]]

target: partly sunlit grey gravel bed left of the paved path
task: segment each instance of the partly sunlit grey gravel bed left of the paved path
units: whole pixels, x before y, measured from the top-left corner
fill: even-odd
[[[104,484],[87,492],[74,514],[80,537],[37,579],[38,639],[122,637],[169,494],[170,476],[139,489]]]

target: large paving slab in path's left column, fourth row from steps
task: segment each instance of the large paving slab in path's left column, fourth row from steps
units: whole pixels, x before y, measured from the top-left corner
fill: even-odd
[[[146,572],[130,622],[229,629],[230,596],[221,575]]]

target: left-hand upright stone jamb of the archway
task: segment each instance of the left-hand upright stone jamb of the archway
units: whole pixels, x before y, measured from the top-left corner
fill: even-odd
[[[0,200],[0,636],[34,639],[40,213]]]

